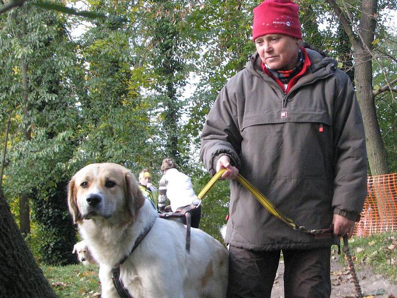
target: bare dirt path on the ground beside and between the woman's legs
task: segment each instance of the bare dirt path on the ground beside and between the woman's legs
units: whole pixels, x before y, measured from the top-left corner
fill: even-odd
[[[348,267],[344,268],[338,261],[339,255],[332,253],[331,259],[331,298],[354,298],[356,291]],[[274,281],[271,298],[283,298],[283,272],[284,264],[281,261],[277,276]],[[357,277],[360,282],[361,291],[364,297],[373,298],[395,298],[397,297],[397,283],[385,279],[380,274],[373,274],[371,269],[357,270]]]

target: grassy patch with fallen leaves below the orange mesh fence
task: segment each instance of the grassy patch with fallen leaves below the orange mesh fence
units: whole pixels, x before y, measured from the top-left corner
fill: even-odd
[[[374,273],[397,282],[397,232],[352,237],[348,243],[357,269],[371,267]]]

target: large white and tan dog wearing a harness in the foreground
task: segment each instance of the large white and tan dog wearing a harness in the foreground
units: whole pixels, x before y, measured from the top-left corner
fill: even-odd
[[[127,168],[114,163],[82,168],[69,181],[67,201],[73,222],[99,262],[103,298],[120,297],[111,272],[118,266],[133,298],[226,297],[226,248],[192,228],[188,252],[186,226],[159,218]]]

